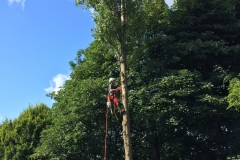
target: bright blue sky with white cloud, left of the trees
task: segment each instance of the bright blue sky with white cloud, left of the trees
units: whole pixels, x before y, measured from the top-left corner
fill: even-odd
[[[29,105],[52,106],[46,94],[69,78],[68,62],[93,41],[93,26],[74,0],[0,0],[0,122]]]

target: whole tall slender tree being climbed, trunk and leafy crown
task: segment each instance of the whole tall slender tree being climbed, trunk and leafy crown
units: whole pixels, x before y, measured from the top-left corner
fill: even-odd
[[[119,58],[123,114],[123,140],[126,160],[132,159],[130,117],[127,90],[127,54],[131,52],[136,37],[143,36],[141,19],[144,14],[140,1],[131,0],[76,0],[77,5],[86,4],[95,10],[93,19],[96,23],[95,37],[109,44],[111,50]],[[137,14],[136,14],[137,13]],[[142,25],[140,28],[139,26]]]

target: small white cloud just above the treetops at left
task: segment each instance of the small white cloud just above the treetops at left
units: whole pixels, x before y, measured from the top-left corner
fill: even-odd
[[[45,91],[47,93],[51,93],[53,91],[58,92],[61,88],[61,86],[64,85],[66,80],[69,80],[70,77],[68,75],[64,75],[64,74],[58,74],[55,77],[53,77],[53,79],[50,81],[50,87],[45,88]]]

